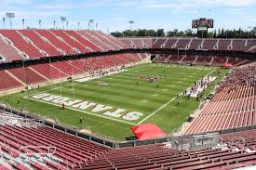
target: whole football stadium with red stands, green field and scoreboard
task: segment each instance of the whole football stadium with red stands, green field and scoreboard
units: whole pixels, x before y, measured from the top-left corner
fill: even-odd
[[[118,35],[17,17],[0,30],[1,170],[256,168],[256,28],[215,37],[195,18],[192,35],[140,36],[128,20]]]

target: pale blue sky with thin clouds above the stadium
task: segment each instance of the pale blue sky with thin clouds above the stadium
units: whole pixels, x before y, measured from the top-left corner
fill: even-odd
[[[15,12],[13,28],[25,26],[52,28],[53,20],[62,28],[61,16],[69,20],[69,29],[88,28],[88,20],[99,23],[103,32],[129,29],[164,28],[166,31],[191,28],[191,20],[206,17],[215,20],[215,28],[249,30],[256,26],[256,0],[0,0],[0,17]],[[9,28],[8,21],[6,21]],[[3,28],[1,20],[0,27]]]

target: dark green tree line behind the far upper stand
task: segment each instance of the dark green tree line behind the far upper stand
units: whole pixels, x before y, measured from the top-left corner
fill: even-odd
[[[198,38],[256,38],[256,30],[246,31],[242,29],[234,30],[214,30],[207,32],[206,30],[199,30],[198,32],[191,29],[179,31],[178,29],[165,32],[164,29],[158,30],[126,30],[124,32],[111,33],[115,37],[198,37]]]

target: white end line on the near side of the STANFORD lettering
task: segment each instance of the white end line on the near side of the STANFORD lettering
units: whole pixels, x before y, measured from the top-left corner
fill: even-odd
[[[35,98],[28,98],[28,97],[23,97],[23,98],[31,99],[31,100],[34,100],[34,101],[38,101],[38,102],[42,102],[42,103],[46,103],[46,104],[50,104],[50,105],[54,105],[54,106],[61,107],[61,105],[59,105],[59,104],[50,103],[50,102],[42,101],[42,100],[35,99]],[[69,110],[72,110],[72,111],[84,112],[84,113],[87,113],[87,114],[90,114],[90,115],[98,116],[98,117],[105,118],[105,119],[110,119],[110,120],[112,120],[112,121],[116,121],[116,122],[120,122],[120,123],[136,125],[136,124],[133,124],[133,123],[129,123],[129,122],[127,122],[127,121],[118,120],[118,119],[115,119],[115,118],[103,116],[103,115],[96,114],[96,113],[92,113],[92,112],[88,112],[88,111],[81,111],[81,110],[77,110],[77,109],[74,109],[74,108],[71,108],[71,107],[66,107],[66,108],[69,109]]]

